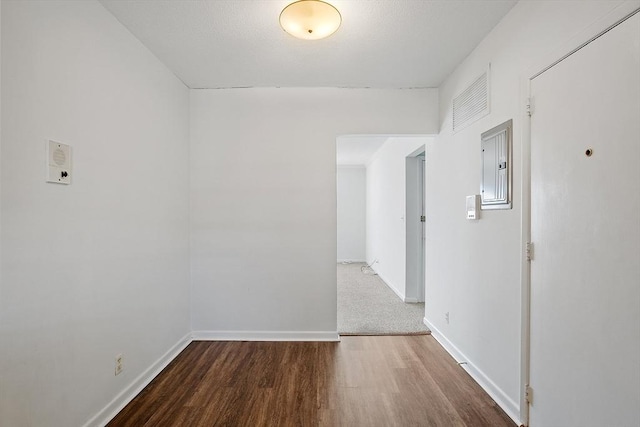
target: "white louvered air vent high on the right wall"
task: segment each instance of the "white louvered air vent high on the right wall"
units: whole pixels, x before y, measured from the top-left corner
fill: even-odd
[[[454,132],[489,114],[489,70],[453,98]]]

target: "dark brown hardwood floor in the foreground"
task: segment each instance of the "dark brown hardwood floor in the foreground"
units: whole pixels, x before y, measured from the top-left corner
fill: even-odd
[[[509,426],[429,335],[191,343],[116,426]]]

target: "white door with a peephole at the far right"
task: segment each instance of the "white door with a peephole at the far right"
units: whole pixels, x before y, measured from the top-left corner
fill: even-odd
[[[637,426],[640,14],[531,91],[530,425]]]

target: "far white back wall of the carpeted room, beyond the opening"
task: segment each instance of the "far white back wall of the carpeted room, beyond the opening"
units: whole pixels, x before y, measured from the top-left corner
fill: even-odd
[[[364,166],[338,166],[338,262],[364,262],[367,231],[367,170]]]

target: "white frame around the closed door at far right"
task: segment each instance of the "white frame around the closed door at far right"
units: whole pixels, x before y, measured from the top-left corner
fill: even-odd
[[[585,30],[560,45],[549,55],[538,61],[525,73],[521,81],[521,117],[522,117],[522,218],[521,218],[521,343],[520,343],[520,422],[524,426],[529,425],[529,402],[527,388],[530,381],[530,356],[531,356],[531,269],[529,256],[533,252],[527,250],[531,242],[531,114],[535,112],[535,100],[531,99],[531,82],[542,73],[550,70],[569,56],[578,52],[592,41],[598,39],[609,30],[622,22],[640,13],[638,1],[625,1],[607,15],[601,17]],[[534,242],[535,243],[535,242]],[[535,256],[535,255],[534,255]]]

